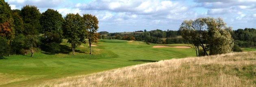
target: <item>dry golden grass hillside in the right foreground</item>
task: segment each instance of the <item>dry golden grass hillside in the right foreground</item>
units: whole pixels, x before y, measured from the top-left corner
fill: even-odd
[[[39,86],[256,87],[256,52],[171,59],[56,79]]]

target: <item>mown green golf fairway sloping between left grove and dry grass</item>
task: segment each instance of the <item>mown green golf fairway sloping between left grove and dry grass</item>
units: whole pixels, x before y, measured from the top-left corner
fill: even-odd
[[[63,48],[69,44],[63,42]],[[76,55],[68,49],[63,53],[47,55],[35,53],[34,57],[12,55],[0,59],[0,87],[31,86],[43,81],[91,74],[163,59],[195,56],[193,49],[152,48],[143,42],[126,40],[100,40],[89,55],[88,44],[78,47]]]

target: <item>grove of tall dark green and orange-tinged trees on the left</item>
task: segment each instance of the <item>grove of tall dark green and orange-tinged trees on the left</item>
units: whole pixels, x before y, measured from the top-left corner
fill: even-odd
[[[63,39],[71,43],[75,55],[75,48],[86,40],[91,50],[91,43],[98,41],[98,28],[94,15],[69,13],[63,18],[54,9],[40,13],[30,5],[11,10],[7,2],[0,0],[0,56],[28,52],[33,56],[37,50],[58,53]]]

